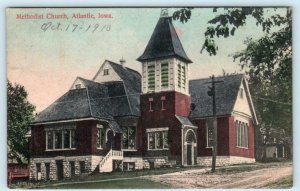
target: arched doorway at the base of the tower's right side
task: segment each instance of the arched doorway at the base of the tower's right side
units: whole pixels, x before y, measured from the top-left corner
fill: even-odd
[[[192,129],[186,131],[185,134],[185,150],[186,150],[186,164],[194,165],[196,156],[197,139],[196,134]]]

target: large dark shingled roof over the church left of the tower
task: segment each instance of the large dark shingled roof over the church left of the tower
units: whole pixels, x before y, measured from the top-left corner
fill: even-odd
[[[111,65],[123,81],[97,83],[78,77],[84,88],[69,90],[43,110],[33,124],[91,117],[109,120],[116,129],[114,117],[139,116],[140,74],[113,62]]]

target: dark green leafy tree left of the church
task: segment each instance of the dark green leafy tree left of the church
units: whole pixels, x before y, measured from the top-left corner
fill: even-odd
[[[27,101],[24,86],[7,81],[7,146],[8,155],[23,163],[29,157],[25,135],[30,131],[35,107]]]

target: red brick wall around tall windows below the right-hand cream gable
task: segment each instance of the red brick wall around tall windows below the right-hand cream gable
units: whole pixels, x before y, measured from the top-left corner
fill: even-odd
[[[229,124],[230,155],[254,158],[254,126],[252,120],[249,119],[248,148],[239,148],[236,146],[236,128],[233,116],[229,118]]]

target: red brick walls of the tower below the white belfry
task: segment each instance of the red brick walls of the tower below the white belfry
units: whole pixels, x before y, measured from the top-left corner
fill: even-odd
[[[162,110],[161,97],[165,96]],[[149,98],[153,98],[152,110],[149,111]],[[139,152],[145,156],[169,156],[181,158],[181,124],[175,115],[188,116],[190,96],[175,92],[160,92],[141,95],[141,119],[138,125]],[[148,151],[146,129],[169,127],[169,150]]]

